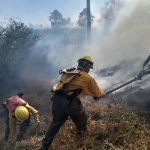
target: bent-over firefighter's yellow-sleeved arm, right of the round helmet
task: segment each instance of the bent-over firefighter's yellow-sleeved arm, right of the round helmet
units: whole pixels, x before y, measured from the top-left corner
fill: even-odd
[[[39,113],[38,113],[38,111],[34,107],[30,106],[29,104],[26,104],[26,107],[32,113],[32,115],[34,117],[34,121],[37,123],[37,125],[39,125],[40,120],[39,120]]]

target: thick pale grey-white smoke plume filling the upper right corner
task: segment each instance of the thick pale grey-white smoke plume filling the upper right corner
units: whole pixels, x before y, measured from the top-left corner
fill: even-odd
[[[118,64],[122,60],[144,60],[148,56],[149,8],[150,2],[146,0],[133,0],[125,5],[110,32],[97,40],[99,46],[93,48],[95,59],[100,60],[99,66]]]

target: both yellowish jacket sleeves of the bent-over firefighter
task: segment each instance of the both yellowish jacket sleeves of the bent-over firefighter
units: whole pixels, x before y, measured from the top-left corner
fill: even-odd
[[[26,103],[24,106],[33,115],[34,121],[36,123],[39,123],[40,121],[39,121],[38,111],[34,107],[30,106],[28,103]],[[10,128],[12,142],[16,141],[16,123],[17,123],[17,119],[15,118],[15,111],[9,111],[9,128]]]

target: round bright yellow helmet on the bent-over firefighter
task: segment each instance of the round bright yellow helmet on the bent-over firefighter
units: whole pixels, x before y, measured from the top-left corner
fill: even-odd
[[[29,118],[29,111],[25,106],[18,106],[15,109],[15,117],[19,121],[25,121]]]

